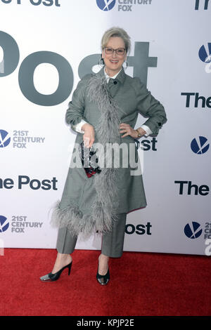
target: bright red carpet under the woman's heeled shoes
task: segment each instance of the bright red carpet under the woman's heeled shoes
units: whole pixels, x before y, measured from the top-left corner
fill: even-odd
[[[71,274],[56,282],[56,250],[5,249],[0,256],[2,316],[208,316],[211,263],[207,256],[124,252],[110,259],[110,282],[96,282],[99,251],[76,250]]]

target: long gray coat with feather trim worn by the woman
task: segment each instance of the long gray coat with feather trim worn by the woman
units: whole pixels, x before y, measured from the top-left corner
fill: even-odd
[[[123,69],[108,84],[103,69],[79,81],[66,112],[66,122],[74,130],[75,125],[84,119],[94,126],[95,143],[105,147],[106,143],[125,143],[132,148],[128,149],[129,152],[120,152],[119,168],[102,169],[91,178],[87,178],[83,167],[70,167],[52,223],[68,226],[74,235],[79,232],[91,235],[94,230],[110,230],[115,214],[146,206],[142,175],[139,172],[132,175],[134,168],[130,160],[139,161],[135,140],[131,136],[121,138],[123,133],[119,133],[120,123],[134,128],[139,114],[148,118],[144,124],[155,135],[167,121],[160,102],[153,98],[139,78],[129,77]],[[82,133],[77,133],[75,150],[82,140]],[[127,167],[122,165],[125,159],[128,160]]]

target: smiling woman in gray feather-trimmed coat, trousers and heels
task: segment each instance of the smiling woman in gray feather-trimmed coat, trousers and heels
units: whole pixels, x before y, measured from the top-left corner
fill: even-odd
[[[96,278],[100,284],[108,284],[109,258],[122,256],[127,213],[146,206],[141,173],[134,175],[132,167],[137,166],[132,166],[130,161],[134,164],[138,161],[134,139],[158,134],[167,119],[162,105],[140,79],[124,73],[123,63],[129,49],[130,38],[124,29],[108,29],[101,40],[103,68],[79,81],[72,95],[66,113],[67,123],[78,132],[72,161],[77,158],[75,152],[80,150],[83,141],[84,150],[100,145],[105,152],[108,145],[118,145],[123,151],[122,156],[117,157],[120,166],[113,164],[115,152],[113,157],[109,156],[113,158],[111,166],[101,161],[109,161],[107,154],[103,158],[102,152],[97,153],[96,165],[101,161],[101,166],[91,176],[87,176],[83,166],[70,166],[62,199],[52,215],[52,223],[59,227],[58,255],[52,272],[41,277],[42,281],[58,279],[65,268],[70,274],[70,254],[75,249],[77,236],[97,231],[102,233],[102,247]],[[134,129],[139,113],[148,120]],[[122,143],[127,150],[122,148]],[[127,166],[123,166],[128,159]]]

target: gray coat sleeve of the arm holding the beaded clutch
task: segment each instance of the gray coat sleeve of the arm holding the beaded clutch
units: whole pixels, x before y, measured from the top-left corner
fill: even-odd
[[[87,90],[88,79],[90,75],[87,75],[77,84],[77,88],[72,94],[72,100],[68,103],[68,110],[65,115],[67,124],[71,125],[71,128],[75,131],[75,126],[84,119],[84,107],[85,107],[85,93]]]

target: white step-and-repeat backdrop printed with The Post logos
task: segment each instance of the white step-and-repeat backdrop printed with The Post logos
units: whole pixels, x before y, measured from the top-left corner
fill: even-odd
[[[51,208],[76,137],[65,112],[118,26],[132,39],[126,73],[168,119],[140,140],[148,206],[128,214],[124,251],[210,256],[211,1],[0,0],[0,13],[0,248],[56,247]]]

